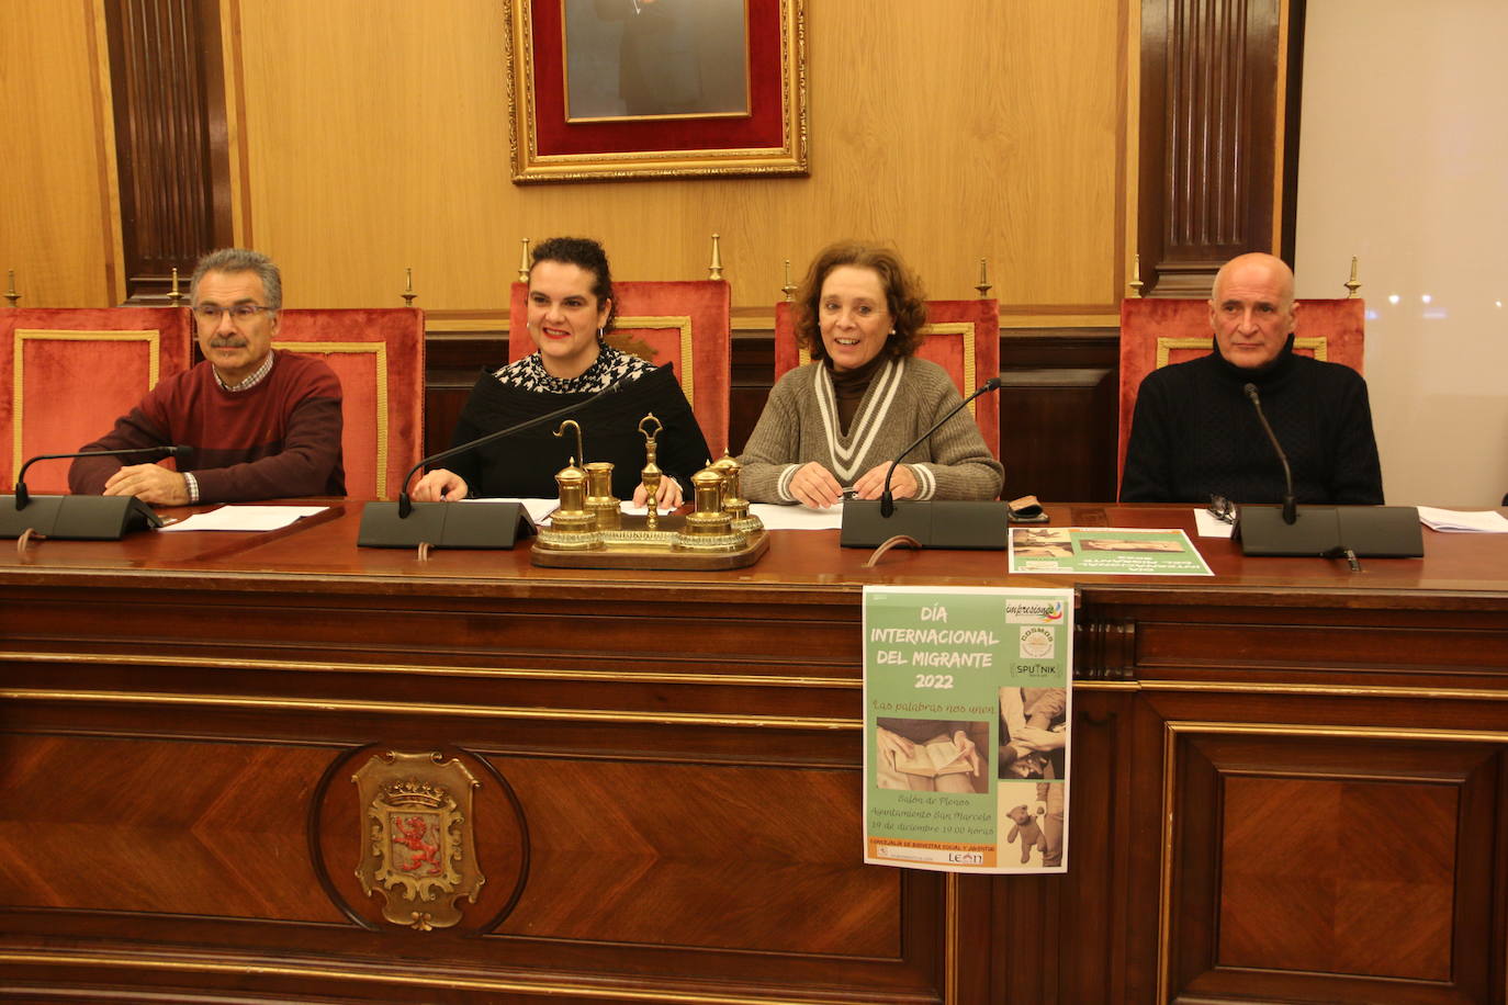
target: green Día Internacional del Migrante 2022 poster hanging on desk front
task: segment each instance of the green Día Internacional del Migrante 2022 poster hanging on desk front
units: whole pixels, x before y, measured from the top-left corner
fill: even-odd
[[[864,588],[864,860],[1068,871],[1074,592]]]

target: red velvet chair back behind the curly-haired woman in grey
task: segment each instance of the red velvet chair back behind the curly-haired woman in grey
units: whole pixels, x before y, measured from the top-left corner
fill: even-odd
[[[786,371],[811,362],[796,342],[796,304],[775,304],[775,380]],[[979,390],[1000,375],[1000,304],[995,300],[929,300],[927,324],[917,356],[946,369],[961,395]],[[985,446],[1000,460],[1000,393],[983,395],[968,405]]]

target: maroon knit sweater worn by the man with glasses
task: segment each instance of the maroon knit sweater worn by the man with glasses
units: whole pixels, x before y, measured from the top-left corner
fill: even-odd
[[[271,372],[250,390],[222,389],[208,362],[175,374],[80,449],[187,444],[193,455],[178,470],[193,472],[199,502],[344,496],[341,381],[321,360],[273,353]],[[119,469],[119,458],[78,458],[68,487],[98,496]]]

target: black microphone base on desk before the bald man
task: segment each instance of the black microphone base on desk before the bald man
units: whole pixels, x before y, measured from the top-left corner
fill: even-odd
[[[1300,506],[1294,523],[1282,506],[1241,506],[1234,538],[1244,554],[1416,559],[1424,532],[1413,506]]]

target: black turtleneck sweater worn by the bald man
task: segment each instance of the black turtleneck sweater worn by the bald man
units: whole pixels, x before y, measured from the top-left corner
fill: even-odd
[[[1295,356],[1294,339],[1267,366],[1209,356],[1152,371],[1142,381],[1126,446],[1120,502],[1237,503],[1283,497],[1283,466],[1243,386],[1262,410],[1294,472],[1301,503],[1381,503],[1383,472],[1366,381],[1339,363]]]

